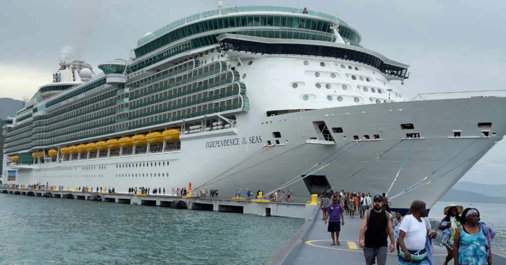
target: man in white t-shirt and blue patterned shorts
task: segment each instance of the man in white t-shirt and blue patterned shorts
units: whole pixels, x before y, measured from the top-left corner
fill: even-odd
[[[425,202],[414,201],[411,204],[411,215],[404,216],[399,227],[399,245],[402,252],[399,255],[399,265],[429,264],[429,257],[425,250],[426,236],[431,226],[427,219]],[[436,232],[429,234],[436,238]]]

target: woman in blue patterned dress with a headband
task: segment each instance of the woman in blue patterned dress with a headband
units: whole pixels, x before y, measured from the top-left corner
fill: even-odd
[[[477,209],[463,210],[453,240],[455,265],[492,264],[490,246],[494,236],[495,232],[480,222],[480,212]]]

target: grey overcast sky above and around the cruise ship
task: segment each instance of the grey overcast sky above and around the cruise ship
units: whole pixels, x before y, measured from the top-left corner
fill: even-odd
[[[227,2],[227,1],[224,1]],[[411,65],[403,86],[420,93],[502,90],[504,1],[235,1],[230,6],[308,8],[335,15],[362,34],[363,47]],[[216,1],[9,1],[0,8],[0,97],[22,99],[51,82],[59,52],[75,49],[97,65],[128,59],[146,32]],[[506,143],[500,142],[462,180],[506,184]]]

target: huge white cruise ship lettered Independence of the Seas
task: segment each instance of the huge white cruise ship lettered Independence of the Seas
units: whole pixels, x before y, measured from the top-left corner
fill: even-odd
[[[102,73],[61,61],[3,127],[4,184],[170,194],[191,182],[194,194],[280,189],[294,202],[390,190],[393,209],[431,208],[506,134],[506,99],[406,98],[409,65],[361,40],[324,13],[218,2],[146,33]]]

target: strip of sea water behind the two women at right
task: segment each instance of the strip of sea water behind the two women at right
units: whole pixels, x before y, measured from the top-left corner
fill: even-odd
[[[444,215],[444,208],[450,204],[460,205],[464,209],[468,207],[478,209],[481,221],[497,233],[492,240],[492,249],[506,252],[506,223],[503,219],[506,217],[506,213],[503,211],[504,204],[473,203],[470,205],[470,203],[438,202],[429,211],[429,219],[433,230],[438,228],[441,220],[446,216]]]

